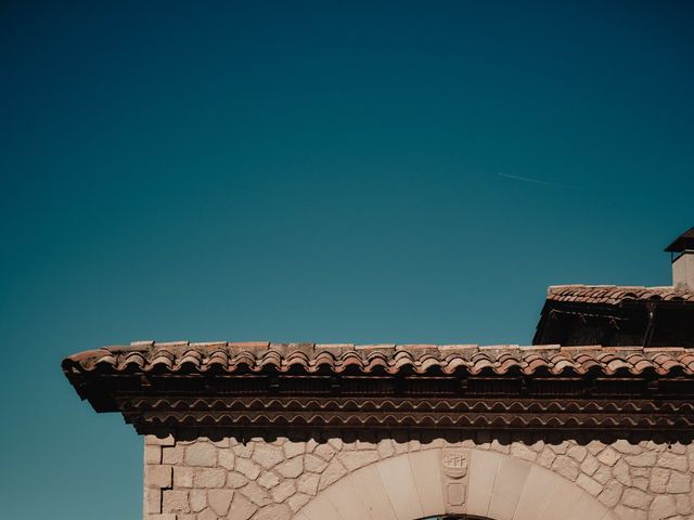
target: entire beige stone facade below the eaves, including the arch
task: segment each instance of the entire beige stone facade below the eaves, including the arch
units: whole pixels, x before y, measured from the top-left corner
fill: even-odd
[[[210,437],[145,437],[146,520],[694,520],[689,443]]]

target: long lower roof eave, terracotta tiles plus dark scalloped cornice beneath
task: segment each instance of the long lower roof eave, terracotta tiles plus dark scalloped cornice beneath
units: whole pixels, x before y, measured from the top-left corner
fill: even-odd
[[[98,412],[166,428],[694,427],[683,348],[134,343],[67,358]]]

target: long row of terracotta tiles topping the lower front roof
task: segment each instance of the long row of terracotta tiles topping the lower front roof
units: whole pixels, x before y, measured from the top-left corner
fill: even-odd
[[[143,372],[205,373],[218,367],[227,373],[259,373],[264,369],[286,373],[300,368],[306,373],[329,369],[335,374],[408,372],[424,374],[485,370],[507,374],[538,370],[553,375],[597,372],[639,375],[653,372],[668,375],[677,370],[694,375],[694,352],[683,348],[642,348],[600,346],[354,346],[313,343],[189,343],[137,342],[130,347],[104,347],[80,352],[63,361],[69,373]]]

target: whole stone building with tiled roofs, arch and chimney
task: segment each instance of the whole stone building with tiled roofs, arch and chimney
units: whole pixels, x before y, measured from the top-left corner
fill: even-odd
[[[551,287],[529,347],[140,341],[63,369],[144,435],[147,520],[694,519],[687,233],[672,287]]]

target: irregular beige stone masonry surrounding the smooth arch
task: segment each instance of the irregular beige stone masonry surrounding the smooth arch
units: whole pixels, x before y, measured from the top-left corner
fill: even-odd
[[[624,439],[542,440],[547,435],[511,439],[503,433],[485,432],[474,439],[423,439],[400,432],[385,439],[362,434],[357,440],[327,434],[322,442],[279,437],[253,438],[242,443],[233,437],[145,437],[146,520],[312,520],[304,515],[308,510],[304,506],[360,468],[401,454],[429,450],[442,453],[448,448],[499,453],[507,455],[504,459],[524,461],[528,468],[545,468],[611,511],[601,518],[694,519],[692,444]],[[471,471],[475,471],[474,467]],[[524,474],[523,479],[527,479],[527,471]],[[499,474],[496,478],[502,480]],[[472,494],[471,487],[468,502],[474,500]],[[523,502],[520,496],[514,499]],[[493,507],[489,507],[491,511]],[[522,516],[515,505],[510,510],[499,509],[494,520]],[[491,512],[488,515],[494,518]]]

